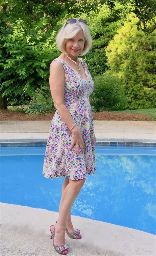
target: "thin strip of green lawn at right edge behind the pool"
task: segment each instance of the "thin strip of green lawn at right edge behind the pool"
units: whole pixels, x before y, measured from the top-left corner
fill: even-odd
[[[147,109],[127,109],[122,111],[112,111],[115,113],[132,113],[132,114],[143,114],[150,117],[150,121],[156,121],[156,108],[147,108]]]

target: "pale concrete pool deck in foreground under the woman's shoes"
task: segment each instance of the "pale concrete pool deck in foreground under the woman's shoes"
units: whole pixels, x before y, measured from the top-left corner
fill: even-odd
[[[57,256],[49,226],[58,213],[1,203],[1,255]],[[155,235],[102,221],[72,216],[82,239],[70,239],[69,256],[155,256]]]

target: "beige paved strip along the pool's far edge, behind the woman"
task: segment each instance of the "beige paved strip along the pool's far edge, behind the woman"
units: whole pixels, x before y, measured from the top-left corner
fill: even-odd
[[[1,142],[46,141],[51,121],[0,121]],[[94,121],[97,141],[156,142],[156,121]]]

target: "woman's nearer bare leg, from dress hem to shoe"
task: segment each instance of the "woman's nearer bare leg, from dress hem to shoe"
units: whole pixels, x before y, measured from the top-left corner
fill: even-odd
[[[65,184],[66,182],[67,181],[65,181]],[[60,207],[59,207],[59,218],[55,226],[55,245],[56,246],[65,244],[65,229],[66,229],[68,214],[84,183],[85,183],[85,179],[76,180],[76,181],[69,180],[69,183],[63,189],[62,198],[61,198]]]

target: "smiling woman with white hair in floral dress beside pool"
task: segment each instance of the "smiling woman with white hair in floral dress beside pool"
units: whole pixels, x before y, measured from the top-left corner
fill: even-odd
[[[50,65],[49,84],[56,112],[50,126],[43,174],[50,179],[65,176],[59,218],[50,231],[55,250],[67,254],[65,232],[72,239],[81,239],[80,230],[75,231],[71,222],[71,207],[87,175],[96,172],[96,138],[89,101],[94,83],[87,64],[78,58],[92,45],[87,21],[68,19],[56,36],[56,43],[62,54]]]

